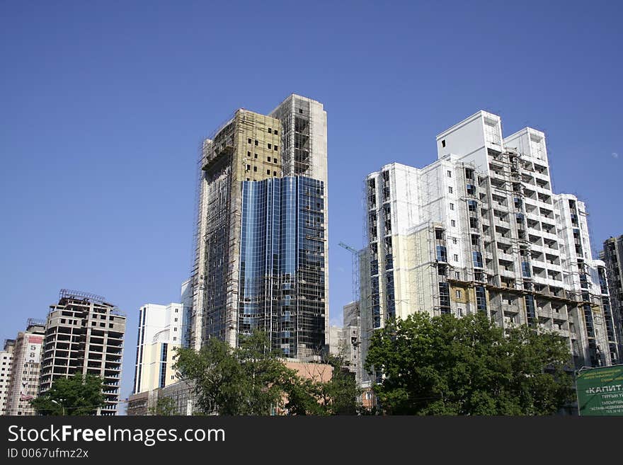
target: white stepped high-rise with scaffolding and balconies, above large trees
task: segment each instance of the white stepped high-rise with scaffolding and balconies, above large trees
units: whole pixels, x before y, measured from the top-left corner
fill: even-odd
[[[591,255],[583,202],[551,190],[543,132],[503,138],[500,117],[479,111],[437,144],[424,168],[367,176],[362,326],[483,311],[503,328],[564,335],[576,366],[620,360],[605,264]]]

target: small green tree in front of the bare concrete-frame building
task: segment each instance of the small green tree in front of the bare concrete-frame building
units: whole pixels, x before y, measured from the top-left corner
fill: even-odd
[[[45,394],[30,401],[40,415],[95,415],[104,406],[101,377],[80,373],[55,379]]]

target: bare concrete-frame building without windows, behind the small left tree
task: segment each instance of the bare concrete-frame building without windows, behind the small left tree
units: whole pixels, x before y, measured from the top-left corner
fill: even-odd
[[[40,394],[55,379],[93,374],[103,379],[105,405],[98,415],[117,415],[125,321],[104,297],[61,289],[47,314]]]

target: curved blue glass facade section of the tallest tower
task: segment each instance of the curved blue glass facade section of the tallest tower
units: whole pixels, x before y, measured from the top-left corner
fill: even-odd
[[[325,337],[324,183],[292,176],[242,183],[240,334],[261,329],[286,357]]]

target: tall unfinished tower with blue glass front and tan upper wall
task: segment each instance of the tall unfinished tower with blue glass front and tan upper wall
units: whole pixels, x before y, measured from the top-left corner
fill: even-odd
[[[196,231],[189,345],[236,345],[261,328],[288,357],[317,353],[328,328],[321,103],[292,95],[270,115],[237,110],[205,140]]]

